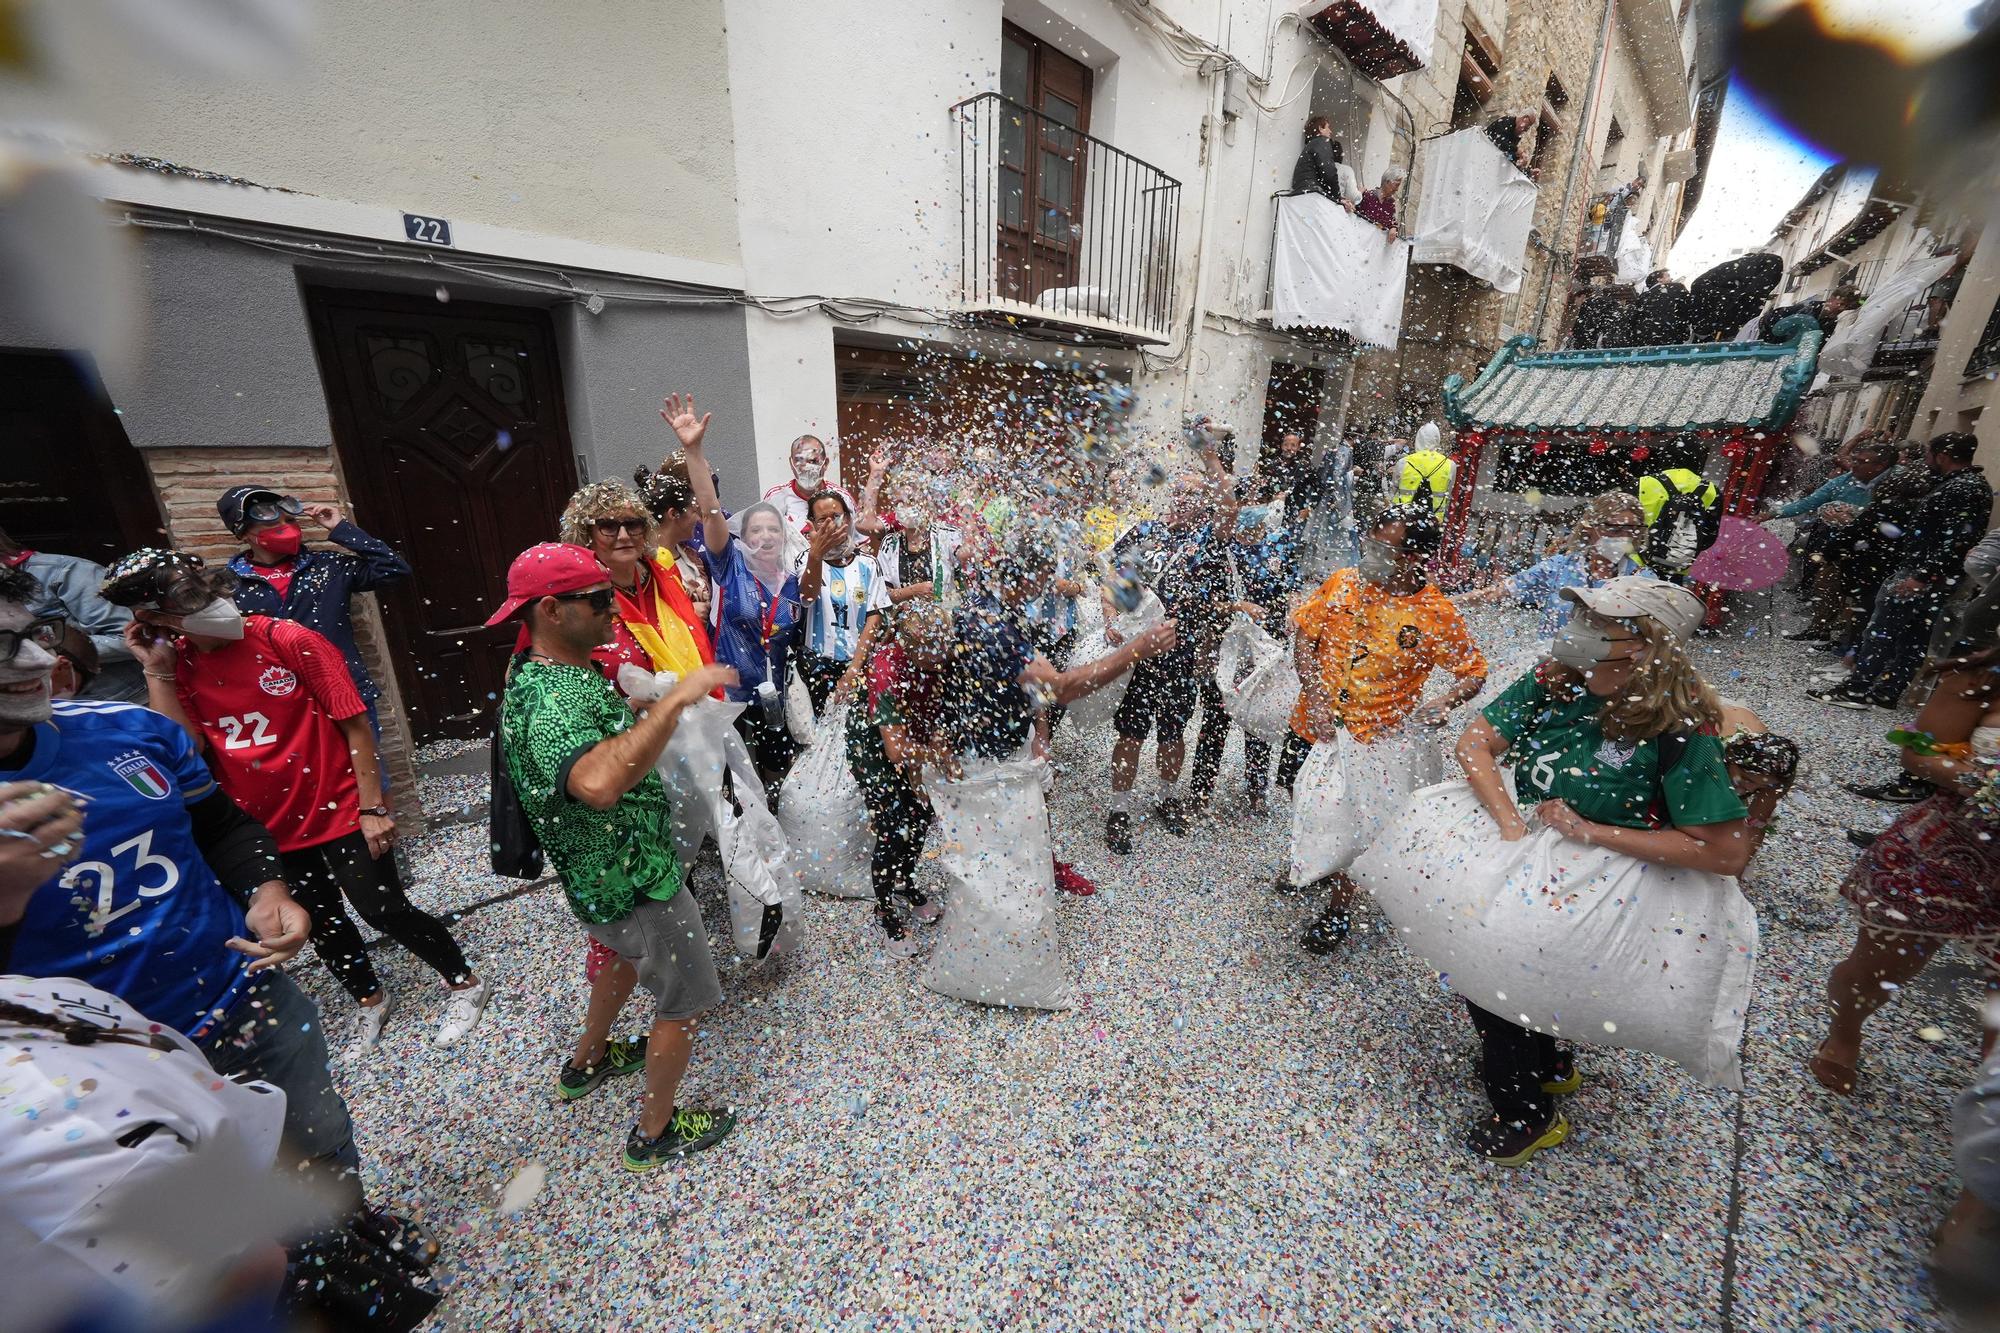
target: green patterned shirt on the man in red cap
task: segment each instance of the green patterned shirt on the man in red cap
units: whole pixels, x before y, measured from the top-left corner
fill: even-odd
[[[640,895],[680,893],[668,841],[666,787],[648,773],[608,811],[568,793],[590,747],[632,725],[632,711],[594,666],[522,658],[500,703],[500,751],[528,825],[562,877],[570,911],[590,923],[628,917]]]

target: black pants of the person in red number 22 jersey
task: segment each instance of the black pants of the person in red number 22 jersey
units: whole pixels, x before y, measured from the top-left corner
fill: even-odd
[[[354,999],[382,989],[362,933],[340,907],[346,897],[362,921],[428,963],[446,983],[458,987],[472,977],[466,955],[444,923],[410,903],[402,891],[396,859],[368,855],[368,839],[358,831],[332,843],[278,853],[292,897],[312,915],[312,947],[320,963]]]

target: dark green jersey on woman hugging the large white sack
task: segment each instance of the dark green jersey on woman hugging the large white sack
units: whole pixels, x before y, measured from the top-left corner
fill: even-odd
[[[1660,743],[1606,739],[1602,707],[1588,691],[1554,699],[1532,671],[1486,705],[1486,721],[1508,741],[1524,809],[1566,801],[1584,819],[1626,829],[1726,825],[1746,815],[1720,741],[1688,735],[1680,763],[1660,773]]]

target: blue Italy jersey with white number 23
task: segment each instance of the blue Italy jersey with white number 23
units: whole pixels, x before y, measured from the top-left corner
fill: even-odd
[[[194,845],[188,803],[216,789],[176,723],[138,705],[60,699],[34,757],[0,779],[90,801],[76,861],[28,899],[10,969],[76,977],[200,1035],[244,985],[242,909]]]

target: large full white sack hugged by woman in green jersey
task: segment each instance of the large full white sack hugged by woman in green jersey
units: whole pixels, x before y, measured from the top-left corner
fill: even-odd
[[[1518,843],[1466,783],[1410,799],[1354,879],[1404,945],[1522,1027],[1652,1051],[1740,1089],[1756,911],[1734,879],[1648,865],[1538,827]]]

